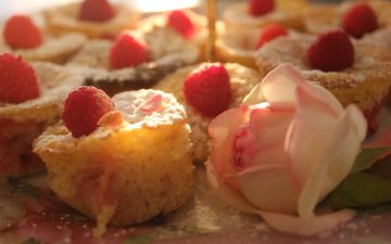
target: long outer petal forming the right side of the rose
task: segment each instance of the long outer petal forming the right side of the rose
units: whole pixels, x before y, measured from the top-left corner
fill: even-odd
[[[311,217],[316,204],[349,175],[367,129],[361,127],[363,123],[366,123],[363,113],[350,105],[329,131],[331,137],[320,164],[316,164],[302,190],[299,216]]]

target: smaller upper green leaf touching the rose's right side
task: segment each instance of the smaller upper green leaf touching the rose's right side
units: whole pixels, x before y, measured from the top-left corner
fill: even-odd
[[[391,151],[389,146],[382,147],[363,147],[355,158],[351,174],[363,171],[373,166],[377,160],[386,156],[387,151]]]

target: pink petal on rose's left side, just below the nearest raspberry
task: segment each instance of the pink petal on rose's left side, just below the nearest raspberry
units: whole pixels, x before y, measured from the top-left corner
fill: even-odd
[[[236,172],[231,164],[232,139],[239,127],[248,120],[249,113],[245,107],[232,108],[218,115],[210,124],[210,162],[222,176]]]

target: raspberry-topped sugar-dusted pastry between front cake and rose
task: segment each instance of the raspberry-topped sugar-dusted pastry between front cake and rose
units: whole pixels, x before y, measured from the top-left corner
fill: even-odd
[[[203,63],[178,69],[154,88],[173,93],[185,106],[191,127],[192,159],[205,162],[209,124],[219,113],[240,104],[260,79],[257,72],[239,64]]]

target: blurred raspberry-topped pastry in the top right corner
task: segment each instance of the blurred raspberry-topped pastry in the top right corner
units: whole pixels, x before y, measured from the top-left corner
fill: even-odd
[[[316,5],[305,12],[304,23],[307,33],[319,34],[341,27],[352,37],[362,38],[391,25],[391,2],[360,0]]]

